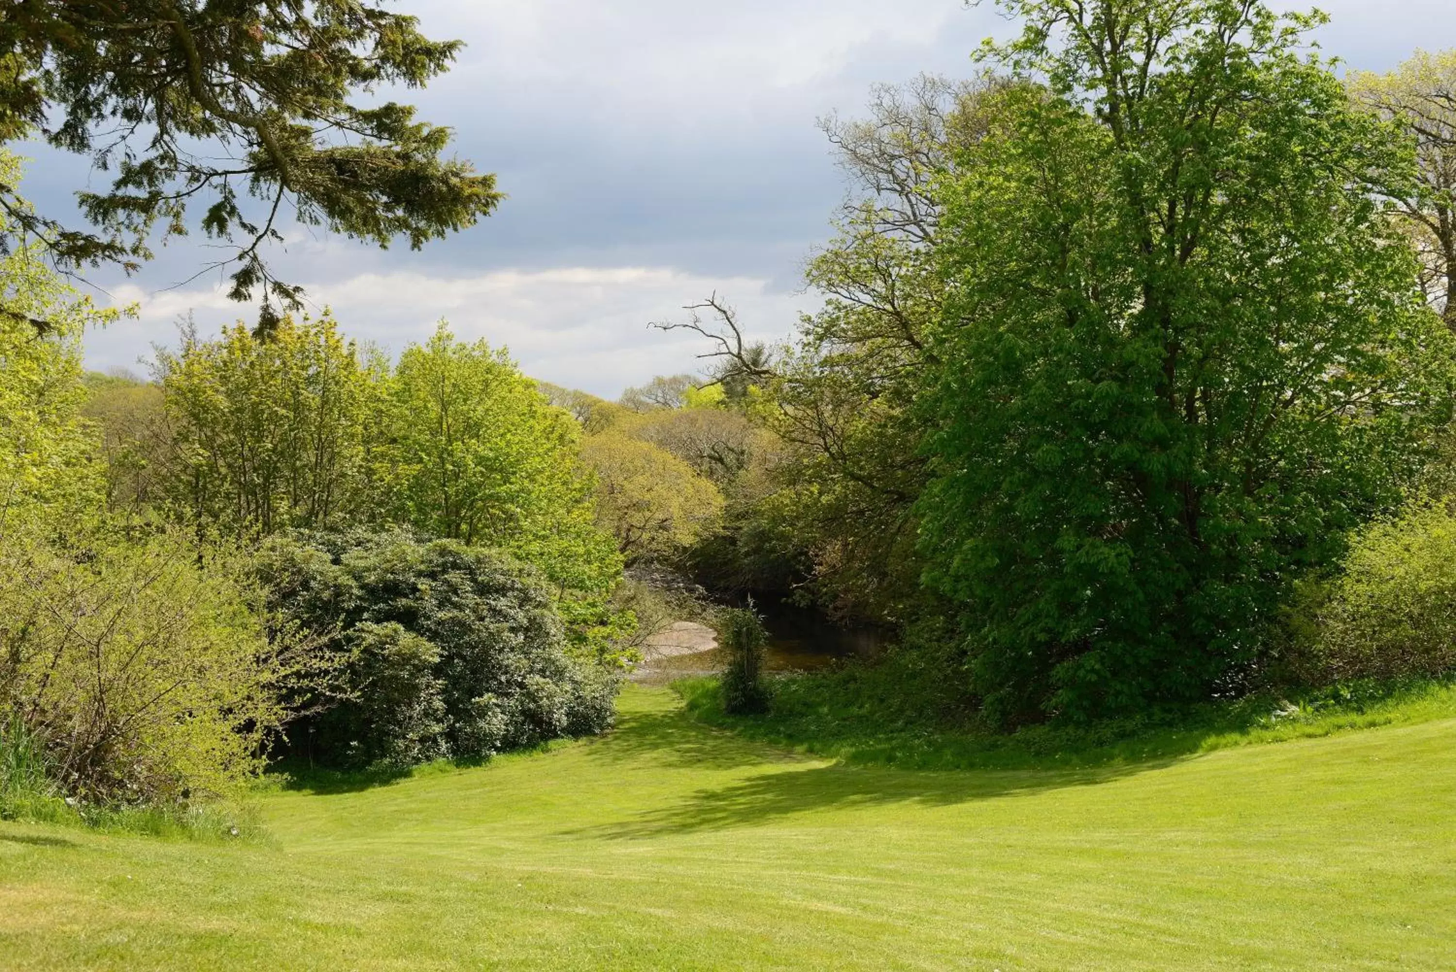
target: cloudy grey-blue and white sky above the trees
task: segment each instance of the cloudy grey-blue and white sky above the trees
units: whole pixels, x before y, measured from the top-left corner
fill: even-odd
[[[1452,0],[1325,0],[1324,51],[1389,70],[1456,47]],[[965,77],[971,51],[1015,26],[961,0],[400,0],[435,38],[467,47],[422,92],[454,152],[495,172],[491,217],[411,252],[293,229],[271,252],[342,329],[397,353],[447,319],[505,345],[534,377],[616,398],[696,370],[700,342],[648,328],[716,293],[751,335],[788,335],[818,300],[801,280],[846,185],[815,121],[853,117],[871,86],[920,71]],[[52,213],[102,184],[83,159],[35,157],[26,192]],[[215,251],[172,242],[140,274],[95,277],[135,319],[87,335],[87,364],[144,373],[179,315],[204,334],[255,310],[218,277],[178,287]]]

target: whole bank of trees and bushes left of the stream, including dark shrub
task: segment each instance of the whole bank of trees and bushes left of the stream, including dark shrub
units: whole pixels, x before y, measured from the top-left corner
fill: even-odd
[[[156,383],[83,377],[115,313],[33,249],[0,287],[0,812],[202,820],[294,720],[390,765],[610,723],[620,560],[575,423],[504,354],[441,328],[390,367],[325,315],[186,328]],[[253,554],[392,523],[460,539]]]

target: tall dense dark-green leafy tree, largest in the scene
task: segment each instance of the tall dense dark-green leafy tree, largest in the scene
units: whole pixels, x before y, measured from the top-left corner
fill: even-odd
[[[1367,187],[1405,143],[1254,0],[1005,0],[943,195],[930,579],[1003,720],[1206,698],[1393,500],[1450,340]]]

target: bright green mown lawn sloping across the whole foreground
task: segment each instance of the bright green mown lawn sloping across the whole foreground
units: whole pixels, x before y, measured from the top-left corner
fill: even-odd
[[[0,966],[1456,969],[1456,720],[929,772],[620,705],[252,842],[0,823]]]

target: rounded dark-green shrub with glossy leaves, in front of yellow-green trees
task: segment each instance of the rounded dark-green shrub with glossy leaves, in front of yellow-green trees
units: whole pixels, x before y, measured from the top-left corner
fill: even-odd
[[[510,557],[397,532],[296,533],[259,558],[272,606],[344,678],[297,691],[296,755],[326,765],[479,759],[612,724],[616,676],[572,659],[550,593]]]

